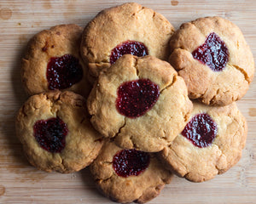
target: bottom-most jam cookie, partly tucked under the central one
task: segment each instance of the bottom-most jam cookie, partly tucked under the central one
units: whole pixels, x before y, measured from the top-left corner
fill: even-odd
[[[103,145],[90,172],[98,189],[121,203],[150,201],[172,179],[155,153],[120,149],[113,142]]]

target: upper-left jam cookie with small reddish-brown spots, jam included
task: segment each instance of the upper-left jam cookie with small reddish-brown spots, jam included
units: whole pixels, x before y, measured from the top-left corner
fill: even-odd
[[[57,89],[87,97],[91,87],[88,68],[79,54],[82,31],[74,24],[60,25],[32,37],[21,65],[21,79],[28,94]]]

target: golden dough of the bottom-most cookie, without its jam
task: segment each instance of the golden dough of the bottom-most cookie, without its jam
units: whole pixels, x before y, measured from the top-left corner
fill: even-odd
[[[160,163],[155,153],[148,153],[148,167],[139,175],[121,177],[113,169],[113,157],[123,150],[113,142],[103,145],[96,160],[90,165],[90,172],[98,189],[113,201],[122,203],[150,201],[160,194],[165,184],[169,184],[172,173]]]

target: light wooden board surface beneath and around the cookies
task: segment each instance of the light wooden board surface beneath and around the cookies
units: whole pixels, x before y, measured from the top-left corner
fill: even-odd
[[[220,15],[241,28],[256,56],[256,1],[137,1],[165,15],[175,28]],[[15,137],[15,114],[26,100],[20,86],[20,56],[35,33],[58,24],[85,26],[99,11],[125,1],[0,0],[0,203],[113,203],[100,195],[88,169],[44,173],[30,166]],[[150,203],[256,203],[256,80],[238,102],[248,122],[241,161],[202,184],[175,177]]]

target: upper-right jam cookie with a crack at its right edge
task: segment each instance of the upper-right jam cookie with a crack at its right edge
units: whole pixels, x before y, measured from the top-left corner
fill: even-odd
[[[229,105],[246,94],[253,54],[241,30],[220,17],[184,23],[170,40],[169,61],[185,80],[190,99]]]

